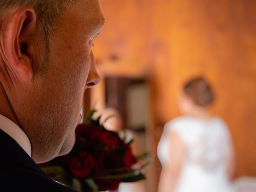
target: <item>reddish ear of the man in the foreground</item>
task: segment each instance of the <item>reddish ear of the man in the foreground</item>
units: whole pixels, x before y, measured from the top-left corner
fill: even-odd
[[[30,6],[19,7],[2,20],[1,44],[6,67],[21,81],[33,77],[32,54],[36,13]]]

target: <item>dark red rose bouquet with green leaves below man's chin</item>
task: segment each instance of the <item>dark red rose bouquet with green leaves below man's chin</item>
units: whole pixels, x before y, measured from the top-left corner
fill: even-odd
[[[144,179],[142,170],[151,162],[138,165],[138,157],[132,154],[130,144],[116,132],[100,125],[100,117],[92,119],[92,110],[86,124],[76,128],[76,143],[72,151],[40,166],[54,180],[80,191],[98,192],[116,190],[120,182],[135,182]],[[136,164],[136,168],[133,165]]]

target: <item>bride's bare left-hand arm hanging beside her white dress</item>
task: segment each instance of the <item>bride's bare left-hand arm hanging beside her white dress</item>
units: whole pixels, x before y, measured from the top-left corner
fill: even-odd
[[[162,168],[158,192],[174,192],[184,159],[185,147],[180,136],[175,132],[170,132],[169,140],[169,162]]]

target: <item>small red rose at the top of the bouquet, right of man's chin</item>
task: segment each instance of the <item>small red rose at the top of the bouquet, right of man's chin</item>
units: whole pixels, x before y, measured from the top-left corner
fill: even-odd
[[[100,142],[106,146],[118,146],[120,144],[120,138],[115,132],[104,130],[101,134]]]

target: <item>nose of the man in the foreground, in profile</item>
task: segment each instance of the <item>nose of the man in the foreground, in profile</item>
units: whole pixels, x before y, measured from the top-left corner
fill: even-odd
[[[100,76],[96,70],[94,55],[91,52],[91,64],[90,64],[90,71],[89,71],[87,82],[86,82],[86,88],[92,88],[99,83],[100,83]]]

